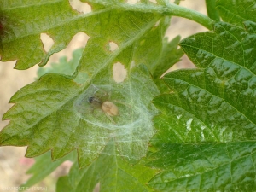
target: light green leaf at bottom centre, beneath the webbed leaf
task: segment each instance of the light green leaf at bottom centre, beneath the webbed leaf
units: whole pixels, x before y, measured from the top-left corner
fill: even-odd
[[[57,191],[93,191],[96,183],[100,183],[101,191],[152,191],[146,183],[155,171],[142,165],[131,166],[121,157],[109,155],[115,153],[115,145],[110,141],[90,166],[79,169],[73,165],[69,174],[58,180]]]

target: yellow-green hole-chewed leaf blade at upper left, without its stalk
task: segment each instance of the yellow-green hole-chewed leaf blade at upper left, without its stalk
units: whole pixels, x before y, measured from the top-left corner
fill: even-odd
[[[101,35],[119,44],[136,34],[141,24],[153,18],[153,14],[119,13],[118,10],[107,8],[96,9],[91,15],[81,15],[71,8],[67,0],[44,3],[5,1],[0,7],[3,15],[0,55],[3,55],[2,61],[18,59],[15,65],[18,69],[26,69],[37,63],[45,65],[49,56],[64,49],[77,32],[86,32],[90,37]],[[113,16],[109,17],[109,14]],[[129,18],[130,23],[125,18]],[[117,21],[125,21],[126,25],[116,25]],[[98,25],[95,26],[96,23]],[[55,42],[47,54],[39,39],[42,32],[46,32]]]

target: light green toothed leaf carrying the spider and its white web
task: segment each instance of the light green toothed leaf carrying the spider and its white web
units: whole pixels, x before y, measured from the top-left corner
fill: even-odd
[[[154,30],[159,16],[130,13],[128,25],[122,21],[128,13],[110,12],[113,19],[100,12],[97,20],[103,14],[102,22],[108,21],[118,32],[113,35],[114,27],[100,30],[100,37],[89,39],[78,67],[78,73],[86,74],[86,81],[77,84],[70,76],[46,74],[19,90],[10,101],[15,106],[3,116],[11,122],[0,133],[1,145],[27,145],[27,157],[52,150],[53,160],[77,149],[81,167],[95,160],[110,138],[115,138],[120,155],[133,163],[146,154],[148,140],[154,134],[151,119],[157,112],[150,101],[159,90],[140,63],[135,67],[131,63],[134,45]],[[128,26],[131,28],[124,32]],[[113,52],[108,49],[110,40],[119,45]],[[119,84],[113,79],[117,61],[127,70],[125,81]],[[113,101],[119,115],[111,121],[101,109],[93,108],[89,98],[95,95]]]

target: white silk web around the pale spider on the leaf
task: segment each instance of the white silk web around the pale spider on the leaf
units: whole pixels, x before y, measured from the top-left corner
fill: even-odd
[[[146,154],[149,139],[154,135],[152,119],[155,115],[150,101],[142,101],[137,92],[113,88],[110,85],[91,84],[73,102],[73,108],[80,119],[93,127],[101,127],[103,131],[94,135],[87,135],[91,145],[101,145],[108,142],[116,143],[119,154],[129,160],[139,160]],[[113,102],[119,108],[119,114],[110,117],[102,111],[100,105],[94,105],[90,98],[97,98],[100,103]],[[148,106],[145,104],[148,102]],[[92,139],[95,137],[94,139]],[[84,153],[93,154],[94,151],[84,149]],[[95,153],[98,153],[97,149]],[[110,155],[110,154],[109,154]]]

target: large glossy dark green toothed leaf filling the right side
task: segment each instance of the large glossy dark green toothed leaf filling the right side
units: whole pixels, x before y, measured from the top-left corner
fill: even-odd
[[[228,39],[228,41],[226,40]],[[183,39],[198,69],[164,77],[171,94],[154,98],[148,166],[156,190],[252,191],[256,183],[256,34],[220,22]]]

